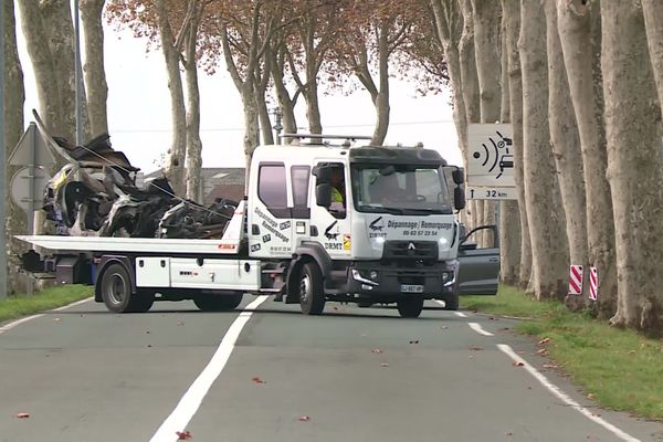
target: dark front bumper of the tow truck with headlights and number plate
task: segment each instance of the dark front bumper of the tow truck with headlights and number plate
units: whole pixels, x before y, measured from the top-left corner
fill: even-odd
[[[376,301],[414,296],[443,299],[453,293],[456,274],[455,262],[424,266],[357,262],[348,269],[343,292]]]

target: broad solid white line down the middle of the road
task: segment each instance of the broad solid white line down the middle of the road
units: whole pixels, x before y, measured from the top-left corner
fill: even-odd
[[[240,316],[238,316],[225,333],[225,336],[223,336],[212,359],[210,359],[207,367],[201,371],[198,378],[196,378],[193,383],[191,383],[191,387],[189,387],[185,396],[182,396],[175,410],[172,410],[170,415],[161,423],[161,427],[159,427],[155,435],[152,435],[150,442],[178,440],[176,432],[186,430],[191,418],[193,418],[193,414],[196,414],[202,400],[212,387],[212,383],[225,367],[242,328],[244,328],[249,319],[251,319],[253,311],[265,302],[265,299],[267,299],[267,296],[259,296],[257,299],[246,306],[244,312],[240,313]]]

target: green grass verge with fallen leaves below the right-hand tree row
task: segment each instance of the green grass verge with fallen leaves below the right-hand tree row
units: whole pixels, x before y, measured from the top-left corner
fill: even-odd
[[[463,307],[524,317],[516,330],[538,339],[559,368],[601,407],[663,420],[663,340],[611,327],[561,303],[537,302],[503,286],[497,296],[467,296]]]

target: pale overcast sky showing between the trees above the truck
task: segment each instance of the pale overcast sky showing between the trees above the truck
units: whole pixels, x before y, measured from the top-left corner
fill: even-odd
[[[19,51],[25,81],[25,115],[36,108],[36,90],[30,59],[19,27]],[[164,56],[158,49],[146,52],[146,42],[129,32],[106,27],[105,65],[108,82],[108,126],[113,147],[131,164],[150,172],[170,146],[170,102]],[[243,117],[240,96],[222,65],[209,76],[200,72],[201,138],[203,167],[241,167]],[[418,97],[414,85],[392,81],[391,124],[387,143],[439,150],[451,164],[461,165],[457,136],[449,96]],[[305,128],[303,99],[297,123]],[[357,91],[320,97],[324,134],[371,135],[375,110],[370,96]]]

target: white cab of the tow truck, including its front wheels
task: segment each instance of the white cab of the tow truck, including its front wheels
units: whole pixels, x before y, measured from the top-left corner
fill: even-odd
[[[462,180],[446,182],[435,150],[349,145],[254,151],[251,257],[285,265],[286,302],[309,314],[326,299],[396,302],[403,316],[418,316],[425,298],[457,307],[460,240],[450,190]],[[464,200],[455,193],[460,209]]]

